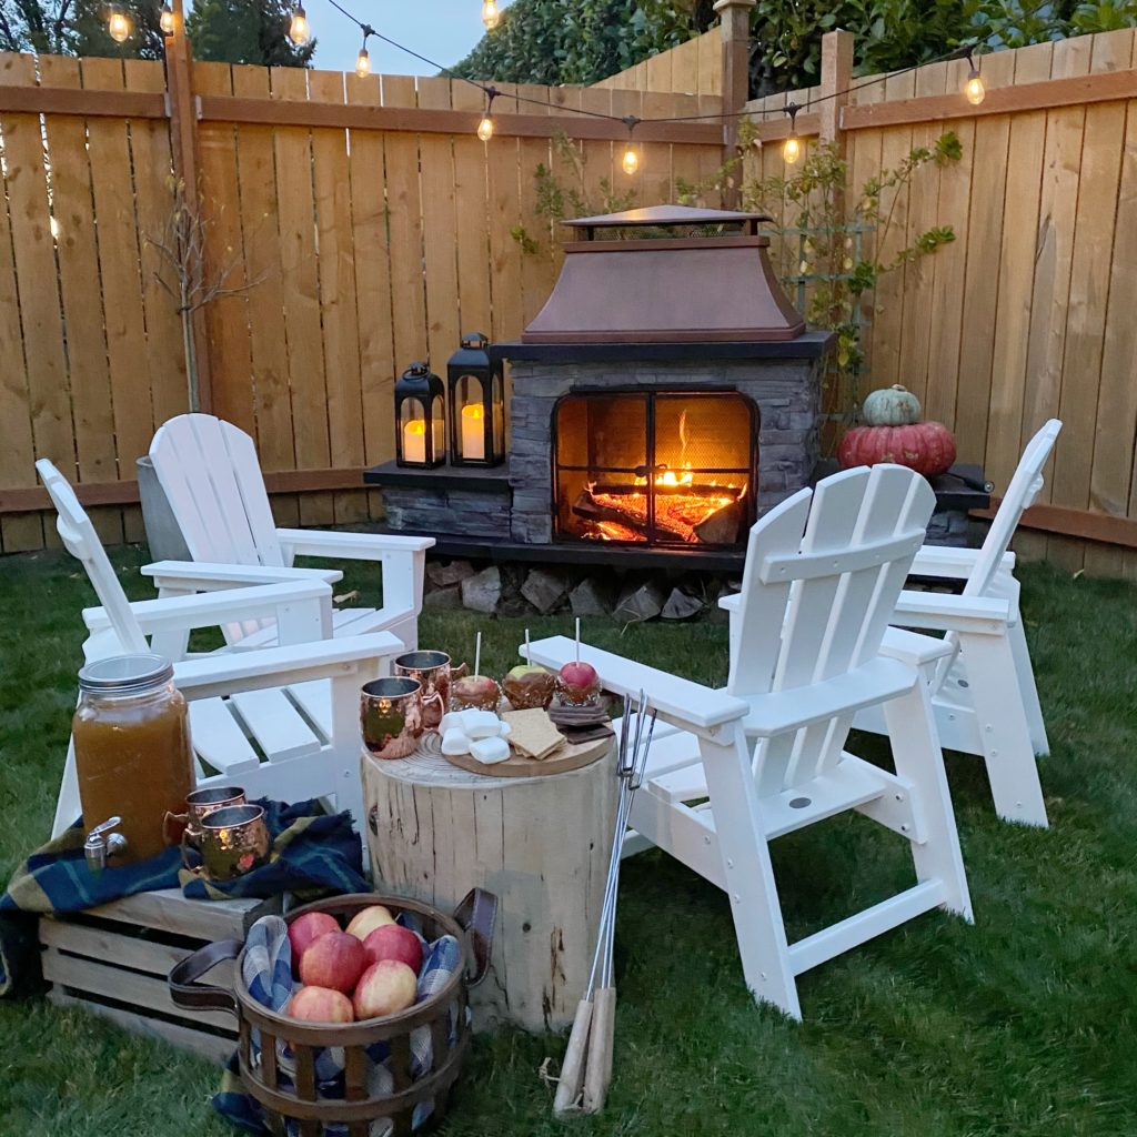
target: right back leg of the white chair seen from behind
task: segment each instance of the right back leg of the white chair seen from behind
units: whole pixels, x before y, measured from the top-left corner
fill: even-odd
[[[968,877],[927,684],[918,682],[907,695],[886,703],[885,721],[896,772],[906,778],[919,795],[919,802],[913,804],[927,828],[926,839],[912,843],[916,879],[921,883],[943,881],[946,888],[944,907],[971,923]]]

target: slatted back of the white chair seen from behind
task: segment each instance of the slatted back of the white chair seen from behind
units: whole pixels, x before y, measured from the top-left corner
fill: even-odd
[[[812,500],[811,500],[812,499]],[[936,497],[903,466],[847,470],[802,490],[750,531],[728,690],[804,689],[877,657]],[[780,634],[779,634],[780,630]],[[758,792],[833,765],[852,714],[762,744]]]

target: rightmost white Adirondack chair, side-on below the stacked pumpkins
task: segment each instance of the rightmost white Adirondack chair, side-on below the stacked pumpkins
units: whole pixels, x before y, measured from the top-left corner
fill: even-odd
[[[928,546],[916,554],[913,573],[963,580],[963,595],[904,591],[893,616],[903,628],[947,633],[951,655],[928,671],[940,745],[980,755],[998,815],[1031,825],[1047,823],[1035,758],[1048,754],[1049,744],[1007,546],[1043,488],[1043,467],[1061,430],[1052,418],[1027,445],[982,548]],[[875,708],[854,725],[886,729]]]

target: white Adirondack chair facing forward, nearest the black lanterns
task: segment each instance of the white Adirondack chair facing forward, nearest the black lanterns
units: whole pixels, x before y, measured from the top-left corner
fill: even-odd
[[[417,647],[423,570],[433,538],[277,529],[252,439],[213,415],[171,418],[155,434],[150,459],[194,561],[274,567],[288,567],[297,556],[377,562],[383,607],[334,612],[333,633],[389,631],[407,650]],[[171,562],[143,572],[153,576],[161,596],[199,587],[192,572]],[[259,648],[276,641],[276,629],[272,621],[230,623],[225,636],[232,646]]]

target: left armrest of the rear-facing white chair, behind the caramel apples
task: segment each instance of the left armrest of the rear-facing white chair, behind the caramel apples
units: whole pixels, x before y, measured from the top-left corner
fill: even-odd
[[[554,636],[531,645],[531,657],[546,667],[557,669],[576,657],[576,645],[565,636]],[[642,690],[662,719],[695,733],[712,733],[715,728],[741,719],[749,711],[748,704],[732,695],[611,652],[582,644],[580,658],[596,667],[606,690],[633,697]]]

